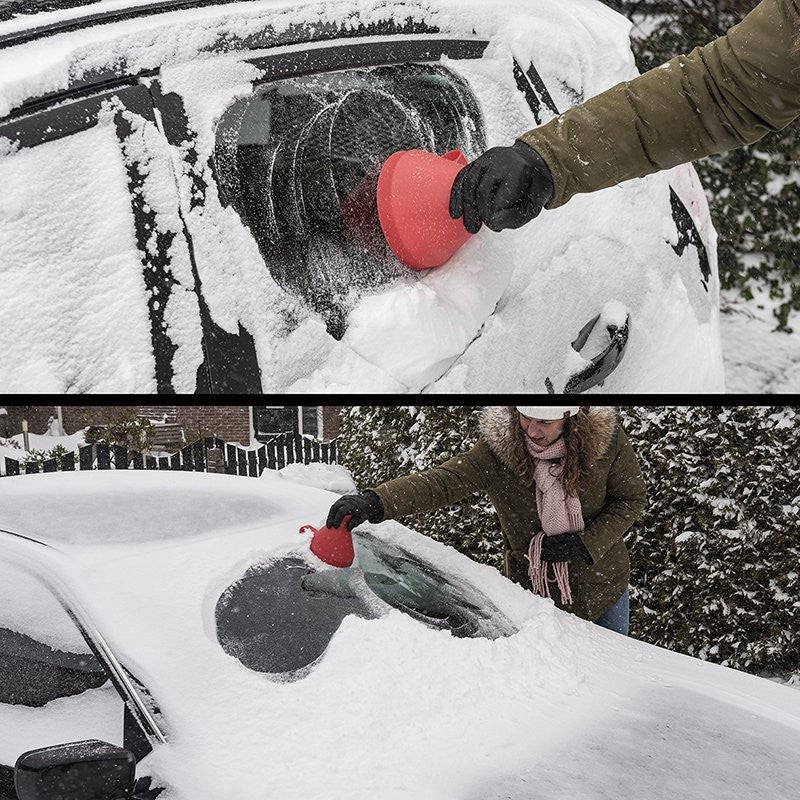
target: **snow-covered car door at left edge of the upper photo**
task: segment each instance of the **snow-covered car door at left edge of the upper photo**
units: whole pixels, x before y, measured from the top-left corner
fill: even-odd
[[[0,383],[194,391],[199,308],[146,77],[114,73],[0,121]]]

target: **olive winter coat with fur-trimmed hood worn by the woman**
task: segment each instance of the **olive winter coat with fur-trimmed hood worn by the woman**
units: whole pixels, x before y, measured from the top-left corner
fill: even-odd
[[[590,411],[587,443],[594,467],[587,489],[580,493],[585,530],[581,534],[592,563],[570,562],[573,604],[567,610],[594,620],[607,611],[628,585],[630,561],[623,535],[641,517],[645,484],[636,455],[616,412]],[[483,411],[481,438],[463,455],[425,472],[388,481],[372,489],[381,499],[386,519],[433,511],[477,492],[494,504],[505,545],[506,575],[530,588],[526,553],[541,529],[536,510],[530,456],[525,449],[517,412],[492,407]],[[564,607],[553,592],[557,605]]]

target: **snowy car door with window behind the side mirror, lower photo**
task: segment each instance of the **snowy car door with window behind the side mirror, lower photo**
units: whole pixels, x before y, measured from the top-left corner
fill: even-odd
[[[138,762],[165,741],[146,687],[94,627],[42,540],[0,530],[0,799],[26,752],[94,740]],[[144,769],[142,800],[153,800]],[[139,795],[137,795],[139,796]]]

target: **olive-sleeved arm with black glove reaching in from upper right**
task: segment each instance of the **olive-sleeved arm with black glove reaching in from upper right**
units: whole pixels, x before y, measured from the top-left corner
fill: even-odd
[[[725,36],[493,147],[458,173],[450,215],[477,233],[544,206],[752,144],[800,116],[800,0],[762,0]]]

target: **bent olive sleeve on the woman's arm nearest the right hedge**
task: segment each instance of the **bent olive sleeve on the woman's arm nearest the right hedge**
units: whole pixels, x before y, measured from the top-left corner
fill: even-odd
[[[646,500],[647,487],[639,461],[620,427],[606,480],[606,502],[581,534],[594,563],[622,542],[631,525],[641,519]]]

